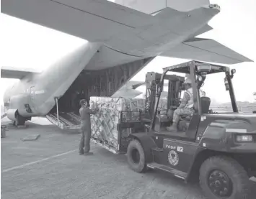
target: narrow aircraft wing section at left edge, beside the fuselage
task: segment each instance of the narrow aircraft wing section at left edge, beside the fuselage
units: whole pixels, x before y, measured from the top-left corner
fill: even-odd
[[[1,67],[1,78],[22,79],[26,75],[38,73],[33,69],[18,69],[12,67]]]

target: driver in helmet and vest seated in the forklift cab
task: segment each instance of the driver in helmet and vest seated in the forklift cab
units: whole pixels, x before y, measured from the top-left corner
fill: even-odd
[[[174,111],[172,118],[172,126],[167,126],[167,131],[177,132],[177,125],[180,121],[180,116],[192,116],[194,113],[193,89],[192,81],[188,77],[184,82],[185,93],[180,103],[180,106]],[[199,89],[200,96],[205,96],[206,93]]]

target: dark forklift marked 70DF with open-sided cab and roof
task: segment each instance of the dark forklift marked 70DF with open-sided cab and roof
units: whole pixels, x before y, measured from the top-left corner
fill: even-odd
[[[163,117],[158,110],[168,72],[186,74],[192,80],[194,114],[189,120],[181,118],[188,123],[187,128],[180,128],[177,132],[166,129],[172,124],[172,114],[168,116],[166,113],[167,116]],[[164,68],[156,93],[151,95],[151,101],[155,98],[152,117],[145,122],[144,131],[129,136],[129,167],[135,172],[162,170],[185,182],[199,180],[208,198],[247,198],[250,177],[256,176],[256,116],[238,112],[231,81],[235,72],[226,66],[198,61]],[[231,113],[213,113],[209,110],[211,99],[199,94],[207,76],[214,73],[224,73],[224,85],[233,109]],[[177,86],[168,88],[171,96],[168,97],[168,111],[177,108],[175,103],[180,102],[182,78],[178,80]]]

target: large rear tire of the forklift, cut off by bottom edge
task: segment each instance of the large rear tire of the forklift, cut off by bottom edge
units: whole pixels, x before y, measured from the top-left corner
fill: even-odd
[[[213,199],[245,199],[250,181],[247,172],[230,157],[214,156],[206,159],[200,167],[200,187]]]

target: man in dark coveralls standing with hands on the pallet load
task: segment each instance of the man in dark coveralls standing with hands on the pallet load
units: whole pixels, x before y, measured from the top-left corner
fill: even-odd
[[[80,101],[81,108],[79,114],[81,116],[81,141],[79,144],[79,154],[93,154],[89,152],[90,150],[90,140],[91,140],[91,114],[97,113],[97,108],[92,110],[88,107],[88,103],[85,99]]]

